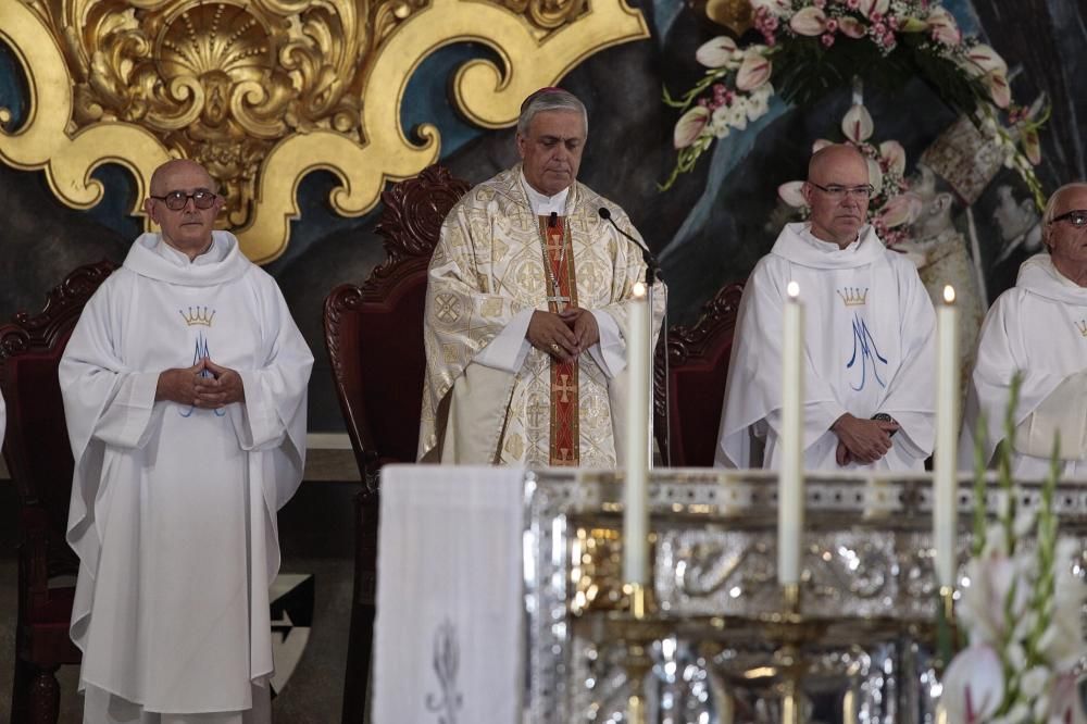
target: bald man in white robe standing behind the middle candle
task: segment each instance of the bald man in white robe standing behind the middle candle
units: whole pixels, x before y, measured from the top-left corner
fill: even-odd
[[[785,227],[744,289],[717,465],[778,465],[782,314],[796,282],[805,309],[804,466],[924,470],[934,436],[935,313],[914,265],[865,225],[871,192],[854,148],[812,157],[803,187],[810,221]]]

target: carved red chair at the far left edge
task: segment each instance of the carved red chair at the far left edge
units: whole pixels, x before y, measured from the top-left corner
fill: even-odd
[[[40,313],[20,312],[0,326],[3,453],[20,503],[14,723],[55,722],[55,672],[80,659],[68,638],[79,561],[64,540],[73,461],[57,367],[84,304],[114,269],[109,261],[80,266],[49,292]]]

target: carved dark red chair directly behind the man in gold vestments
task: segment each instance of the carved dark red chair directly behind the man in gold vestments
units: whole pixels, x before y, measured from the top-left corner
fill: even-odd
[[[374,638],[377,583],[377,475],[414,462],[423,404],[426,269],[446,214],[468,190],[438,165],[382,195],[377,232],[386,261],[360,287],[325,300],[325,345],[348,436],[363,478],[355,499],[355,571],[343,688],[343,722],[363,721]]]

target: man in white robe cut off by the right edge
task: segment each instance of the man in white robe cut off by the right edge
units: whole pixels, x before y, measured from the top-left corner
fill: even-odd
[[[1019,372],[1013,473],[1045,477],[1060,437],[1062,476],[1087,479],[1087,184],[1062,186],[1050,197],[1042,241],[1047,252],[1023,262],[1015,286],[997,298],[982,326],[960,467],[973,465],[978,433],[982,455],[991,461],[1005,437],[1011,380]]]

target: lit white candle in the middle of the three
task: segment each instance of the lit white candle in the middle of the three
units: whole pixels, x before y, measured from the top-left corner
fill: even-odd
[[[803,328],[800,286],[789,282],[782,339],[782,437],[777,487],[777,581],[800,583],[804,530]]]

